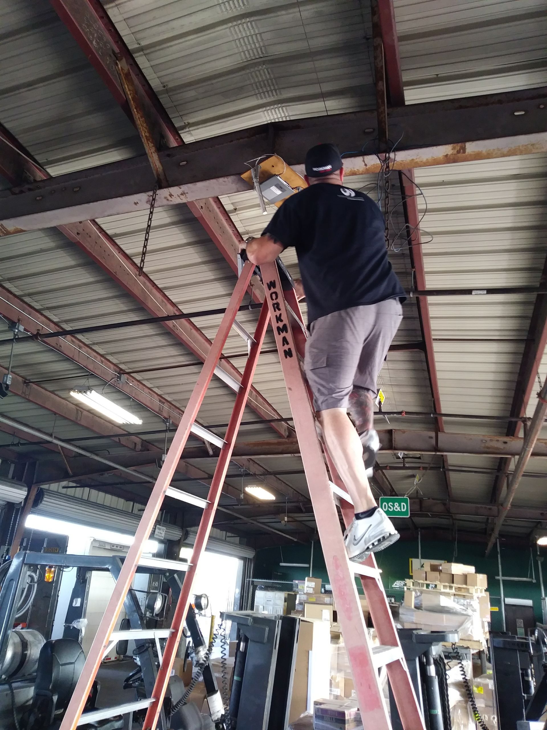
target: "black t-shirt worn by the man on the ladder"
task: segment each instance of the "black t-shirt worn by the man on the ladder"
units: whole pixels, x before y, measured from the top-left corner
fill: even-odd
[[[263,234],[295,247],[310,324],[349,307],[406,299],[387,260],[384,216],[364,193],[310,185],[284,201]]]

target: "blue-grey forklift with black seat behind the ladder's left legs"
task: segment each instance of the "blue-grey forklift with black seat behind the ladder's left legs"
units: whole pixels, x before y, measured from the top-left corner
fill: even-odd
[[[21,551],[12,561],[0,566],[0,717],[2,730],[57,730],[66,707],[74,692],[85,655],[79,643],[82,618],[85,612],[85,594],[88,577],[93,571],[109,571],[114,579],[120,572],[125,556],[75,556],[53,553],[31,553]],[[170,562],[170,561],[167,561]],[[69,607],[66,612],[63,637],[46,640],[42,633],[33,629],[13,627],[18,617],[23,616],[32,603],[36,592],[39,572],[47,567],[75,569]],[[138,572],[158,575],[174,596],[179,596],[181,583],[173,569],[158,566],[139,566]],[[136,591],[129,591],[125,599],[124,631],[116,634],[117,653],[128,652],[128,640],[135,642],[136,669],[126,677],[124,688],[132,688],[136,702],[129,703],[131,721],[144,718],[147,703],[142,698],[152,691],[163,645],[168,631],[155,628],[155,614],[158,606],[164,608],[164,596],[158,592],[149,593],[141,608]],[[206,596],[196,596],[196,604],[206,606]],[[154,626],[150,628],[150,623]],[[199,675],[203,675],[211,716],[201,715],[195,704],[187,704],[190,692],[180,677],[170,678],[168,691],[158,721],[158,730],[225,730],[224,706],[217,683],[209,665],[209,647],[201,634],[193,607],[187,615],[187,636],[181,642],[182,656],[188,653],[190,639],[193,654],[197,660]],[[123,634],[123,636],[120,636]],[[193,682],[195,682],[197,679]],[[121,686],[120,686],[121,690]],[[122,714],[109,709],[98,709],[100,702],[100,681],[93,683],[92,691],[85,704],[91,721],[80,723],[84,730],[118,730],[123,728]]]

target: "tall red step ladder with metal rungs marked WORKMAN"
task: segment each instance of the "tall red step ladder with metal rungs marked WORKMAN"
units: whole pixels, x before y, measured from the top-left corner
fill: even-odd
[[[309,486],[311,503],[317,521],[319,539],[324,549],[325,563],[329,580],[333,586],[333,594],[338,610],[338,621],[346,645],[349,663],[352,668],[355,691],[359,702],[362,722],[365,730],[391,730],[389,715],[384,697],[379,685],[379,667],[386,666],[387,675],[391,684],[395,702],[399,711],[404,730],[424,730],[424,721],[419,711],[411,678],[397,637],[397,631],[392,620],[387,598],[381,583],[376,561],[371,555],[362,564],[352,563],[346,556],[344,540],[335,499],[340,501],[341,512],[346,526],[353,518],[353,508],[349,501],[344,485],[335,473],[332,464],[330,472],[333,481],[329,480],[322,445],[319,443],[315,429],[314,413],[311,409],[309,393],[303,380],[298,355],[303,354],[305,334],[303,331],[300,308],[292,288],[283,292],[279,272],[276,264],[265,264],[260,267],[262,274],[265,302],[258,318],[249,358],[245,366],[241,387],[236,396],[236,403],[226,431],[224,444],[220,450],[220,457],[212,479],[209,495],[203,500],[203,516],[195,537],[190,564],[165,561],[155,558],[141,558],[145,540],[150,533],[161,509],[163,498],[167,495],[180,499],[182,502],[196,504],[193,495],[179,491],[170,486],[176,464],[182,455],[190,429],[198,416],[198,411],[205,396],[209,383],[212,380],[222,348],[230,334],[238,307],[244,298],[255,266],[248,261],[241,269],[236,288],[230,298],[230,303],[222,318],[222,323],[214,338],[211,350],[207,356],[198,381],[195,384],[192,396],[168,450],[166,460],[158,475],[158,480],[150,495],[147,507],[143,512],[135,540],[123,563],[120,576],[117,579],[112,597],[98,626],[96,637],[88,653],[82,674],[79,677],[74,694],[66,709],[60,730],[75,730],[77,726],[90,723],[98,719],[98,714],[104,717],[106,710],[83,712],[85,702],[91,691],[93,680],[101,665],[106,651],[112,646],[112,640],[120,639],[120,631],[115,631],[115,624],[123,608],[125,596],[131,588],[131,582],[136,567],[142,560],[148,564],[157,564],[158,568],[185,570],[185,580],[179,601],[176,604],[171,629],[167,629],[168,638],[163,650],[158,676],[156,678],[152,697],[138,702],[128,703],[120,707],[109,708],[109,716],[123,712],[132,712],[147,707],[144,721],[144,730],[155,730],[160,716],[163,698],[166,694],[171,669],[174,664],[176,650],[182,635],[190,596],[192,595],[193,579],[198,566],[199,558],[205,549],[213,518],[222,492],[228,465],[236,442],[236,436],[243,416],[247,396],[251,388],[252,377],[255,374],[258,356],[263,344],[268,323],[272,323],[279,350],[290,408],[294,418],[295,431],[300,443],[306,480]],[[285,301],[285,296],[287,301]],[[287,310],[288,306],[288,310]],[[289,312],[290,317],[289,318]],[[327,456],[328,459],[328,456]],[[334,497],[334,499],[333,499]],[[359,576],[368,602],[371,617],[380,639],[380,645],[373,647],[368,639],[368,632],[360,607],[360,601],[355,585],[355,576]],[[162,631],[166,631],[163,629]],[[131,632],[132,634],[135,631]],[[150,631],[145,631],[150,634]],[[162,634],[163,635],[163,634]],[[144,638],[144,636],[143,636]],[[137,705],[139,707],[137,707]],[[97,715],[97,717],[95,717]],[[252,729],[245,729],[252,730]],[[280,729],[284,730],[284,729]]]

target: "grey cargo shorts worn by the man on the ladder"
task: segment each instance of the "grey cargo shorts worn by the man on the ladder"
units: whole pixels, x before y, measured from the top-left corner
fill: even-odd
[[[304,370],[317,411],[347,408],[354,386],[376,393],[376,380],[403,319],[398,299],[333,312],[311,323]]]

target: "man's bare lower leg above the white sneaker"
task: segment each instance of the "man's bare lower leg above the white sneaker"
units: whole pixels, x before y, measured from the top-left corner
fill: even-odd
[[[362,444],[345,408],[330,408],[317,414],[330,456],[353,500],[355,512],[376,507],[362,461]]]

